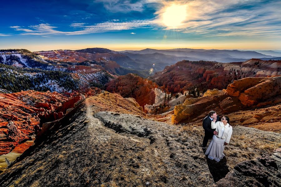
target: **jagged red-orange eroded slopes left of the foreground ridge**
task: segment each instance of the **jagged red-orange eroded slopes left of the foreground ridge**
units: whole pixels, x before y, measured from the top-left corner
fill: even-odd
[[[80,93],[36,92],[0,93],[0,155],[40,130],[40,121],[63,117],[81,99]]]

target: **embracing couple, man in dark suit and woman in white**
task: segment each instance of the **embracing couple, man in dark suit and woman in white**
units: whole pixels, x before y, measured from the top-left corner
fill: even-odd
[[[205,137],[203,139],[203,151],[208,158],[220,161],[224,155],[224,146],[229,144],[232,135],[232,126],[229,125],[229,117],[220,118],[215,111],[210,111],[209,115],[203,119]],[[206,146],[212,138],[207,150]]]

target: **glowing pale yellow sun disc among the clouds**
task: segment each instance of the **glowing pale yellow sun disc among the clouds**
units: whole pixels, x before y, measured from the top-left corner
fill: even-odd
[[[172,5],[163,13],[163,23],[168,27],[178,27],[186,17],[185,5]]]

